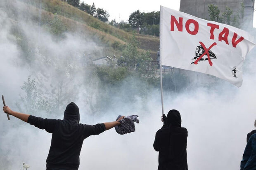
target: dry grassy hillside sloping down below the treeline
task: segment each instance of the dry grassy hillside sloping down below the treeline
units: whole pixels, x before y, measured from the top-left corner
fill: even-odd
[[[9,3],[12,5],[13,2]],[[40,0],[17,0],[15,3],[20,6],[20,12],[29,12],[28,19],[39,22]],[[123,47],[132,37],[131,33],[110,26],[61,0],[42,0],[41,25],[49,24],[56,14],[69,32],[78,32],[82,37],[92,39],[108,56],[121,56]],[[15,20],[15,16],[12,19]],[[159,37],[139,34],[135,37],[141,42],[140,51],[150,51],[152,58],[156,58]],[[98,58],[102,54],[95,51],[94,55]]]

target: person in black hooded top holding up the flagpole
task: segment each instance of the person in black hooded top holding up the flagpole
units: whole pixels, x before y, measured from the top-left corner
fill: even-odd
[[[170,110],[162,121],[153,144],[159,151],[158,170],[187,170],[187,129],[181,127],[180,112]]]

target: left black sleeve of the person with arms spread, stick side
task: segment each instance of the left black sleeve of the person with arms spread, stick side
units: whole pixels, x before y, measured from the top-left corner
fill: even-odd
[[[37,128],[45,129],[49,133],[53,133],[57,124],[57,119],[43,119],[41,117],[30,115],[28,117],[28,123]]]

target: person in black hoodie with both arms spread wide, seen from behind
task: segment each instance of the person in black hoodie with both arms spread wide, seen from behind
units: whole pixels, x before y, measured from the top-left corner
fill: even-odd
[[[8,106],[4,106],[3,110],[5,113],[52,133],[50,151],[46,159],[47,170],[78,170],[83,140],[90,135],[99,135],[105,130],[119,125],[119,120],[123,119],[122,116],[113,122],[96,125],[81,124],[79,123],[79,108],[74,102],[66,106],[63,120],[43,119],[14,112]]]

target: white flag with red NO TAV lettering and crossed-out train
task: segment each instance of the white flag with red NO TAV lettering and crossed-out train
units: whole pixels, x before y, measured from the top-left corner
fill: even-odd
[[[240,87],[253,40],[244,30],[161,6],[162,65],[214,75]]]

